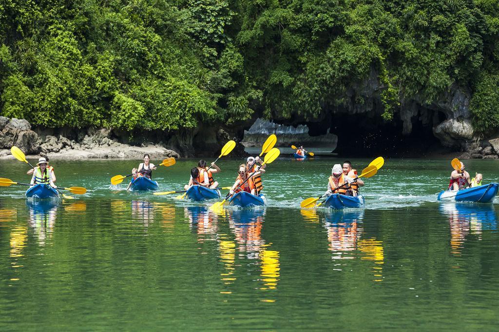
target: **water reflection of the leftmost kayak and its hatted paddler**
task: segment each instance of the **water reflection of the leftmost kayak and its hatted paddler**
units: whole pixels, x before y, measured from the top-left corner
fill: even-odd
[[[40,245],[52,234],[58,205],[59,201],[55,200],[26,200],[29,226],[35,230]]]

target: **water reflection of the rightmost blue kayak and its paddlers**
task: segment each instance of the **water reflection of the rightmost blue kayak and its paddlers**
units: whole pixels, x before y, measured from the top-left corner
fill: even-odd
[[[497,230],[497,216],[492,204],[442,203],[440,212],[448,217],[451,230],[451,252],[461,254],[466,237],[482,239],[483,230]]]

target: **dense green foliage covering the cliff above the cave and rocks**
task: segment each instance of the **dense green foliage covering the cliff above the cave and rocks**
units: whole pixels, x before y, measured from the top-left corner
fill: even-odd
[[[460,86],[487,130],[498,40],[496,0],[5,0],[0,111],[176,130],[255,111],[311,120],[374,97],[390,120],[403,100]]]

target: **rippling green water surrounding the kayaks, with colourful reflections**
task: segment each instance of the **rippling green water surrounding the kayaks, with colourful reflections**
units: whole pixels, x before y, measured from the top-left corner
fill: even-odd
[[[241,161],[221,161],[222,186]],[[387,159],[366,180],[366,209],[331,212],[299,202],[340,160],[280,158],[263,177],[268,207],[220,215],[110,185],[138,162],[54,160],[59,186],[89,190],[76,200],[0,187],[0,330],[497,326],[496,204],[438,203],[449,160]],[[193,162],[154,172],[160,190],[181,189]],[[499,161],[466,164],[499,179]],[[2,177],[28,182],[25,171],[0,161]]]

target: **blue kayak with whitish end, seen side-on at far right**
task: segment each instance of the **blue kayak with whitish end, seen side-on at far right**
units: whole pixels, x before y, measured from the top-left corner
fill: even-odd
[[[438,194],[439,201],[452,202],[472,202],[472,203],[490,203],[498,193],[499,183],[492,182],[488,185],[462,189],[462,190],[443,190]]]

